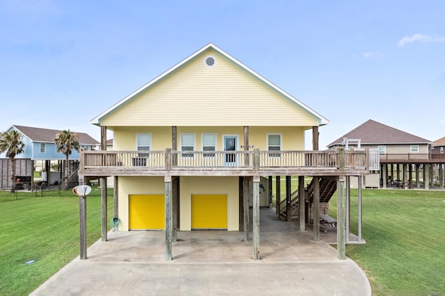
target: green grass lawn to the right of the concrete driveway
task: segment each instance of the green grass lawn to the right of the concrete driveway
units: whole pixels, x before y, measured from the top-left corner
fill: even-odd
[[[366,272],[373,295],[445,295],[445,191],[364,189],[362,196],[366,245],[346,245],[346,256]],[[357,233],[357,190],[351,218]]]

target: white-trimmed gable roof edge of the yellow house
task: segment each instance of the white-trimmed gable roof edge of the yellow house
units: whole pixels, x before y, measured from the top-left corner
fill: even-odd
[[[318,122],[319,126],[322,126],[322,125],[325,125],[325,124],[329,123],[329,121],[325,117],[323,117],[320,114],[316,113],[314,110],[312,110],[311,108],[309,108],[305,104],[302,104],[302,102],[298,101],[298,99],[296,99],[295,97],[292,97],[291,94],[285,92],[281,88],[278,88],[277,85],[271,83],[270,81],[265,79],[263,76],[257,74],[257,72],[254,72],[252,69],[250,69],[249,67],[247,67],[243,63],[239,62],[238,60],[236,60],[235,58],[233,58],[232,56],[227,54],[225,51],[223,51],[219,47],[216,47],[216,45],[214,45],[212,43],[209,43],[206,46],[202,47],[201,49],[196,51],[191,56],[188,56],[188,58],[185,58],[184,60],[179,62],[177,65],[175,65],[175,66],[171,67],[170,69],[168,69],[167,71],[163,72],[163,74],[157,76],[152,81],[149,81],[148,83],[143,85],[138,90],[132,92],[127,97],[124,97],[124,99],[122,99],[121,101],[118,101],[118,103],[114,104],[110,108],[106,109],[104,112],[102,112],[99,115],[97,115],[90,122],[92,124],[95,124],[95,125],[100,125],[102,120],[104,119],[104,117],[106,117],[108,115],[111,115],[111,113],[114,113],[116,110],[118,110],[119,108],[121,108],[125,104],[128,104],[131,100],[135,99],[136,97],[138,97],[140,94],[142,94],[143,92],[145,92],[149,88],[152,88],[154,85],[156,85],[160,81],[163,81],[163,79],[167,78],[168,76],[170,76],[174,72],[177,72],[181,67],[183,67],[184,65],[186,65],[191,60],[193,60],[194,58],[196,58],[197,56],[202,54],[204,51],[207,51],[208,49],[212,49],[213,51],[216,51],[218,54],[220,54],[224,58],[227,58],[227,60],[229,60],[229,62],[231,62],[234,65],[238,66],[243,71],[247,72],[248,74],[253,76],[255,79],[260,81],[261,83],[264,83],[264,85],[268,86],[268,88],[271,88],[275,92],[277,92],[280,95],[282,95],[282,97],[285,97],[286,99],[291,101],[292,104],[294,104],[295,106],[298,106],[299,108],[301,108],[301,110],[305,110],[305,112],[307,114],[311,115],[312,117],[314,117],[316,119],[316,121]]]

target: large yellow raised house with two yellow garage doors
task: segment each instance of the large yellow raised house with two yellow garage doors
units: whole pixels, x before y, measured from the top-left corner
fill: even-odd
[[[318,151],[318,127],[327,123],[208,44],[92,120],[101,126],[102,135],[106,129],[113,131],[113,151],[86,151],[79,182],[114,176],[115,213],[122,231],[165,229],[166,244],[171,242],[169,231],[173,240],[176,231],[195,229],[248,233],[248,200],[252,199],[254,225],[259,226],[255,221],[261,194],[268,192],[267,206],[272,206],[267,190],[271,176],[278,181],[286,177],[286,210],[286,201],[290,206],[298,192],[305,192],[305,175],[314,176],[317,187],[321,176],[339,180],[369,174],[364,152],[357,152],[362,156],[359,163],[337,165],[343,157],[340,152]],[[317,151],[304,151],[308,129],[313,130]],[[296,175],[300,190],[294,198],[291,176]],[[312,193],[298,201],[302,230],[309,198]],[[277,201],[280,207],[279,191]],[[289,211],[286,215],[290,221]],[[314,221],[318,223],[318,213]],[[259,239],[256,226],[254,241]]]

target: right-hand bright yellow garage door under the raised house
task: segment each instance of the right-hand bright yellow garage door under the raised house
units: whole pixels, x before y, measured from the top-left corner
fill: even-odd
[[[227,229],[227,195],[192,195],[192,229]]]

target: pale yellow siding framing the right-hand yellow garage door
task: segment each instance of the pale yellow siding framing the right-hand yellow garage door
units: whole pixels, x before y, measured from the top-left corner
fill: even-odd
[[[239,185],[238,177],[232,176],[181,176],[180,230],[191,230],[192,195],[227,195],[227,230],[239,230]]]

